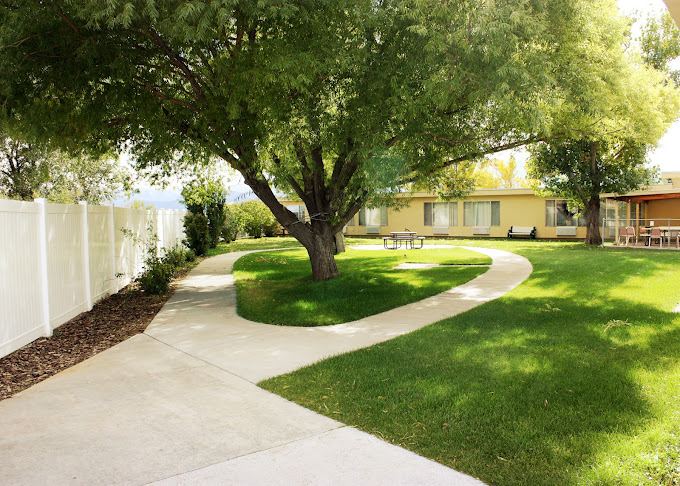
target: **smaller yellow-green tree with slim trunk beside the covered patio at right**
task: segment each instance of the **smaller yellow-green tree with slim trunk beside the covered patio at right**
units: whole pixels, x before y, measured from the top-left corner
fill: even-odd
[[[564,98],[551,116],[561,133],[532,149],[528,167],[544,193],[575,200],[592,245],[602,243],[600,194],[628,192],[652,180],[646,154],[680,109],[680,93],[666,73],[626,51],[628,23],[611,18],[603,6],[581,33],[589,42],[562,53],[560,66],[571,62],[582,69],[558,74]]]

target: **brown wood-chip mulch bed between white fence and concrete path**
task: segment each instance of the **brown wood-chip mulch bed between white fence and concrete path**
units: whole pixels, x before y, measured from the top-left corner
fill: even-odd
[[[189,271],[179,270],[164,295],[147,295],[130,284],[59,326],[52,337],[0,358],[0,400],[144,332]]]

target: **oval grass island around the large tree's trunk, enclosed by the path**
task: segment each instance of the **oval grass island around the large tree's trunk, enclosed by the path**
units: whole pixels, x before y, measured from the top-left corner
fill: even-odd
[[[488,265],[477,252],[453,249],[352,250],[337,255],[340,276],[313,282],[305,250],[253,253],[234,264],[238,313],[289,326],[349,322],[438,294],[475,278],[484,267],[396,270],[404,262]]]

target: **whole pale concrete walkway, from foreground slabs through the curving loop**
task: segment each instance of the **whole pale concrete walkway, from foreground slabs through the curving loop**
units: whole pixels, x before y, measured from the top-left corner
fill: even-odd
[[[0,484],[447,484],[479,481],[299,407],[258,381],[500,297],[511,253],[443,294],[359,321],[290,328],[236,315],[231,269],[201,263],[135,336],[0,402]]]

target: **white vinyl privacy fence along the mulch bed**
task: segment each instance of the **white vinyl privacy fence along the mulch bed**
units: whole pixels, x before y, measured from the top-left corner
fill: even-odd
[[[172,248],[185,214],[0,199],[0,358],[125,287],[143,269],[149,228]]]

